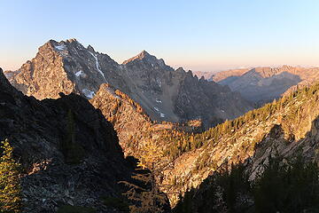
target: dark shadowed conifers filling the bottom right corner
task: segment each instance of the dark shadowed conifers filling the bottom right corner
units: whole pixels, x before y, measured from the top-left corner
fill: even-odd
[[[269,159],[253,182],[243,164],[219,170],[175,206],[182,212],[319,212],[319,168],[301,158]]]

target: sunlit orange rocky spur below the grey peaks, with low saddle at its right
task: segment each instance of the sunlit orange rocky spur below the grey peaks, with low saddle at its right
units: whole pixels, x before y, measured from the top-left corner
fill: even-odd
[[[179,125],[173,122],[153,122],[142,106],[125,93],[103,83],[93,99],[92,106],[101,110],[105,118],[113,123],[118,132],[121,147],[126,155],[139,157],[143,146],[154,141],[158,146],[167,147],[167,131],[180,130],[197,132],[202,130],[201,122],[191,121]]]

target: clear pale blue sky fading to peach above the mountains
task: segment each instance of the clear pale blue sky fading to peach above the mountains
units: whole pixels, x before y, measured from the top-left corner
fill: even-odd
[[[76,38],[121,63],[148,51],[171,67],[318,66],[317,0],[0,0],[0,67]]]

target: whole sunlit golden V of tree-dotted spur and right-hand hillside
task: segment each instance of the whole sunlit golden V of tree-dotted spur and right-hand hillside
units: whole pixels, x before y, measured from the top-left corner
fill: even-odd
[[[222,165],[245,162],[249,178],[254,179],[269,156],[300,154],[307,162],[315,158],[316,146],[309,137],[316,132],[318,84],[199,133],[200,128],[187,123],[152,122],[134,100],[120,91],[111,95],[110,90],[110,86],[101,87],[90,102],[113,122],[125,154],[139,158],[148,141],[162,149],[162,161],[174,166],[158,178],[158,184],[169,185],[163,191],[172,206],[180,194],[198,187]]]

